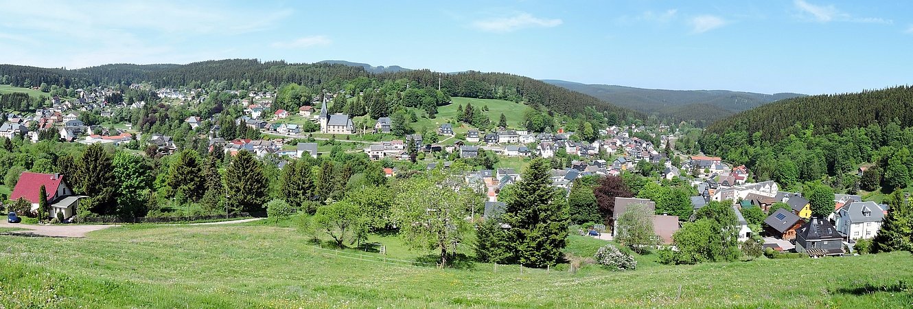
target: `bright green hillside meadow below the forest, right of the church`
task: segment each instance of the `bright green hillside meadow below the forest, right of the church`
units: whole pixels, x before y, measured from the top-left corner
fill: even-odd
[[[508,126],[511,128],[520,127],[520,123],[523,122],[523,112],[526,112],[528,109],[523,103],[515,103],[512,101],[455,97],[453,98],[453,103],[437,107],[435,119],[427,119],[419,116],[418,121],[412,123],[412,128],[415,129],[416,132],[421,132],[422,128],[436,130],[441,123],[456,119],[457,107],[462,105],[463,108],[466,108],[467,103],[471,103],[473,108],[478,108],[478,111],[481,111],[483,106],[488,105],[488,112],[485,113],[488,115],[488,118],[491,119],[492,123],[498,123],[501,113],[504,113],[504,117],[508,119]],[[415,111],[418,115],[424,114],[424,112],[420,112],[419,110]],[[464,124],[455,127],[454,133],[467,133],[469,129],[470,128]]]

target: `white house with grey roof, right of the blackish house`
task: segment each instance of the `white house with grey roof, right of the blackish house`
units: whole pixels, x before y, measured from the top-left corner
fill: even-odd
[[[850,240],[870,240],[881,229],[885,209],[875,202],[852,202],[834,213],[836,229]]]

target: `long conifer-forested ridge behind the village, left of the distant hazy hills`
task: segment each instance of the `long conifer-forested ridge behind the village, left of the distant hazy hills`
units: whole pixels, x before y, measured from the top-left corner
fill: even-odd
[[[210,81],[225,81],[232,89],[269,85],[278,88],[297,83],[314,90],[341,90],[352,80],[367,87],[381,87],[392,80],[410,80],[422,89],[438,87],[447,95],[482,99],[526,101],[541,105],[552,112],[582,114],[592,107],[597,112],[615,113],[621,119],[645,118],[642,112],[618,107],[607,101],[576,91],[568,91],[540,80],[506,73],[467,71],[442,74],[427,69],[372,73],[359,66],[331,63],[261,62],[257,59],[225,59],[194,62],[186,65],[112,64],[86,69],[45,69],[16,65],[0,65],[0,78],[16,86],[37,86],[41,83],[65,88],[85,88],[101,84],[131,84],[151,82],[155,87],[185,87]]]

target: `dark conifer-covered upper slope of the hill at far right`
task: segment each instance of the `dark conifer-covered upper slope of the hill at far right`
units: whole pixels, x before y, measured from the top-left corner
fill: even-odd
[[[893,120],[901,127],[913,126],[913,87],[778,101],[712,123],[706,134],[760,133],[761,140],[776,142],[809,125],[814,134],[827,134],[873,123],[884,127]]]

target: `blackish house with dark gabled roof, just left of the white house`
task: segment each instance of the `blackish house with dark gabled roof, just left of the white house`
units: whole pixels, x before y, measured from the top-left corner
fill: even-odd
[[[796,230],[796,252],[807,252],[811,257],[843,255],[843,237],[830,221],[812,218]]]

